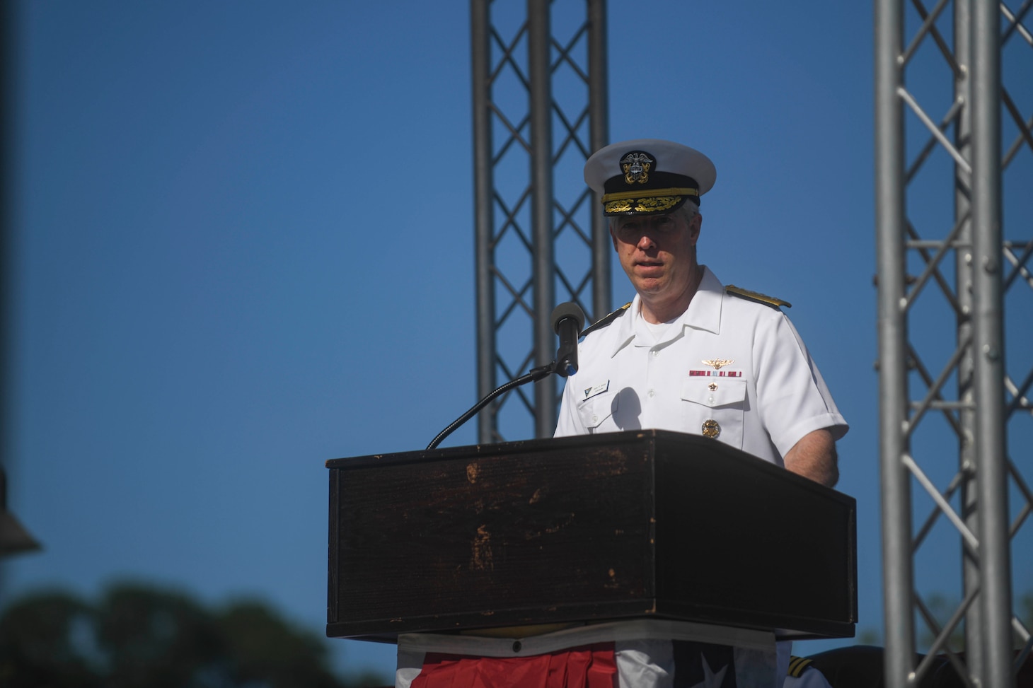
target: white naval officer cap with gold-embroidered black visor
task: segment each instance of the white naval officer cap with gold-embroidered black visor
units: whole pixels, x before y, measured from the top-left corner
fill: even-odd
[[[635,138],[600,148],[585,163],[585,182],[602,197],[604,215],[671,213],[714,187],[706,155],[671,140]]]

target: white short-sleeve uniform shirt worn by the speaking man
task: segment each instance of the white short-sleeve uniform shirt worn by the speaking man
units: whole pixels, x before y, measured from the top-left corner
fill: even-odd
[[[778,308],[725,291],[707,269],[689,308],[651,332],[635,296],[590,333],[567,378],[556,436],[672,430],[714,436],[772,463],[802,437],[847,423]],[[656,330],[656,325],[653,325]],[[706,428],[706,432],[705,432]]]

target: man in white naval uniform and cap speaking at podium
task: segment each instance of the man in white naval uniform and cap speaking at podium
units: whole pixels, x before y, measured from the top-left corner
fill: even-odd
[[[699,196],[716,177],[703,154],[659,139],[589,158],[635,298],[586,331],[556,435],[705,435],[832,487],[847,424],[786,304],[725,287],[696,260]]]

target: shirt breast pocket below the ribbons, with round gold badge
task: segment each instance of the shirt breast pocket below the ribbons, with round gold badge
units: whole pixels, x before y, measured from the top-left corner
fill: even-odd
[[[690,377],[682,384],[682,401],[688,409],[686,432],[743,448],[744,421],[749,405],[746,380]]]

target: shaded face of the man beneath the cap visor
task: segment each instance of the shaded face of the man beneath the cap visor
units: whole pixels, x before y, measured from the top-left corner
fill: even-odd
[[[628,215],[617,219],[611,237],[621,267],[644,299],[678,299],[695,284],[695,244],[702,217]]]

